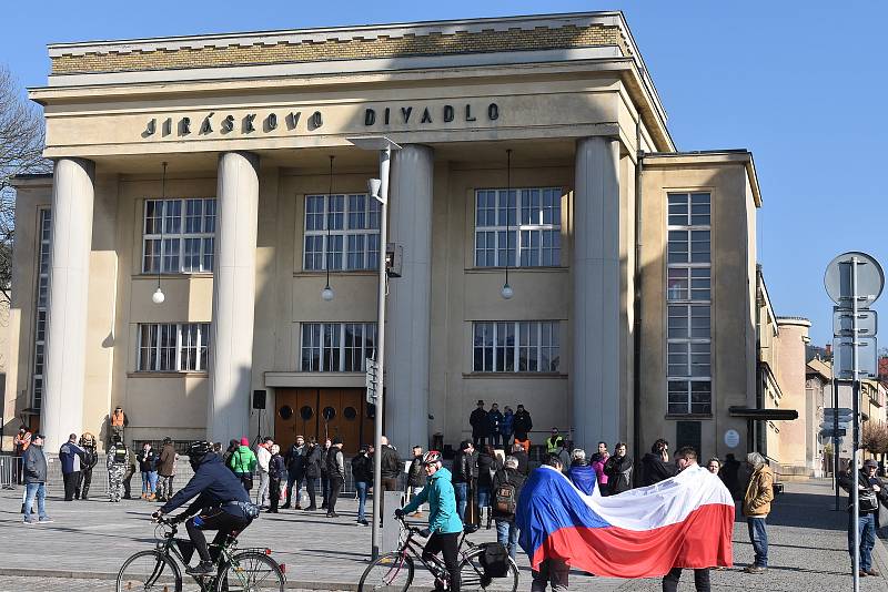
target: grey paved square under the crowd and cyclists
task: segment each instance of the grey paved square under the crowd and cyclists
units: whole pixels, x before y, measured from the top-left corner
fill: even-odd
[[[112,590],[123,560],[154,544],[148,520],[157,504],[140,500],[110,503],[101,499],[64,502],[50,492],[48,512],[54,522],[27,527],[21,523],[21,489],[0,492],[0,592],[16,590],[101,592]],[[735,568],[713,572],[713,590],[735,592],[817,592],[848,590],[851,585],[847,554],[847,514],[835,512],[828,481],[788,483],[768,518],[770,569],[764,575],[740,570],[751,561],[745,522],[734,531]],[[278,561],[286,563],[289,585],[294,589],[354,590],[366,565],[371,529],[355,524],[356,502],[343,498],[341,518],[322,513],[284,511],[263,514],[240,538],[241,547],[269,547]],[[183,533],[184,535],[184,533]],[[482,530],[475,542],[494,540],[493,530]],[[519,590],[529,588],[529,569],[523,553]],[[888,553],[877,544],[875,567],[888,573]],[[27,576],[22,576],[27,575]],[[52,578],[63,575],[64,579]],[[73,579],[68,579],[70,576]],[[97,579],[102,578],[102,579]],[[420,582],[422,583],[422,582]],[[680,590],[693,590],[687,571]],[[186,588],[186,590],[189,590]],[[658,580],[610,580],[573,573],[571,590],[654,592]],[[865,592],[885,592],[888,579],[861,580]]]

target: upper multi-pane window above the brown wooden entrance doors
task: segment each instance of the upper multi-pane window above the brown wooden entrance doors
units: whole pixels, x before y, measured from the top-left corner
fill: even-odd
[[[380,202],[360,193],[306,195],[302,266],[337,272],[379,268]]]

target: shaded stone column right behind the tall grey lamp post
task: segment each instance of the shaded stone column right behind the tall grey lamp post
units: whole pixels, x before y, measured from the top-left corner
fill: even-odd
[[[385,334],[385,435],[402,456],[428,446],[428,349],[432,289],[434,151],[418,144],[394,154],[390,238],[403,248],[402,276],[389,284]]]

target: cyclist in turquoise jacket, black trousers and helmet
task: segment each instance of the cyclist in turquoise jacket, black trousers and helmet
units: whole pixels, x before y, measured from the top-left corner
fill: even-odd
[[[423,549],[423,559],[428,560],[437,553],[444,557],[444,565],[451,574],[451,592],[460,592],[458,538],[463,522],[456,513],[456,496],[451,482],[451,471],[442,465],[441,452],[430,450],[423,457],[426,487],[403,509],[395,510],[400,519],[428,503],[428,528],[420,532],[428,539]]]

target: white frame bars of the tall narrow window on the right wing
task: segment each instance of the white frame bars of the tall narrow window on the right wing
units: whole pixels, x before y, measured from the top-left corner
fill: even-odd
[[[678,213],[680,207],[674,210],[670,207],[670,198],[673,196],[686,196],[686,212]],[[695,196],[708,196],[706,205],[708,210],[703,213],[694,212],[694,205],[703,205],[700,200],[694,204]],[[680,204],[675,204],[680,206]],[[684,216],[684,220],[678,220]],[[712,415],[713,411],[713,241],[712,241],[712,216],[713,216],[713,194],[709,191],[686,191],[686,192],[668,192],[666,194],[666,409],[667,415],[675,416],[706,416]],[[678,224],[678,223],[682,224]],[[694,261],[694,237],[695,233],[708,233],[708,245],[706,252],[708,257],[698,257]],[[687,261],[686,262],[670,262],[669,261],[669,236],[676,233],[685,233],[687,236]],[[696,235],[697,237],[700,234]],[[696,253],[704,253],[697,251]],[[684,273],[683,273],[684,272]],[[708,277],[707,276],[708,273]],[[694,276],[697,277],[694,277]],[[684,279],[682,276],[685,276]],[[695,284],[696,280],[696,284]],[[682,317],[687,319],[686,335],[683,337],[672,337],[669,335],[669,319],[682,318],[672,314],[673,309],[683,307],[685,314]],[[707,335],[694,335],[694,310],[706,308],[708,312],[709,330]],[[704,346],[708,349],[707,363],[703,361]],[[670,348],[673,349],[670,357]],[[682,349],[683,351],[677,351]],[[697,349],[695,353],[694,350]],[[684,371],[675,372],[679,363],[673,361],[678,359],[678,356],[686,356],[684,361]],[[696,357],[696,364],[695,364]],[[708,372],[696,374],[695,368],[703,368],[708,366]],[[703,388],[702,384],[708,384],[708,401],[700,402],[694,401],[694,390],[696,387]],[[683,385],[683,392],[685,394],[684,402],[670,402],[670,395],[678,390],[673,390],[674,386]],[[674,406],[684,405],[683,410],[675,409]]]

